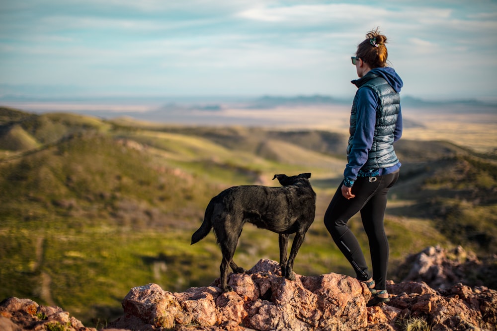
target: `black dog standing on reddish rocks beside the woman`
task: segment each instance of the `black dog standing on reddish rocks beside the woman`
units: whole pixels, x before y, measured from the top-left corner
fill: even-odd
[[[233,262],[238,239],[245,223],[279,234],[281,274],[295,280],[293,263],[307,230],[314,222],[316,193],[309,183],[310,173],[288,177],[274,175],[283,187],[259,185],[234,186],[212,198],[205,210],[204,221],[191,236],[191,244],[203,239],[214,228],[221,246],[221,288],[233,291],[227,284],[228,265],[234,272],[245,269]],[[295,233],[287,260],[288,236]]]

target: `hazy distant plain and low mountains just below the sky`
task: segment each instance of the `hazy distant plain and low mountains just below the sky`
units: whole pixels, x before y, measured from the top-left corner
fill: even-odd
[[[294,95],[294,96],[80,96],[80,97],[0,97],[0,106],[20,109],[27,112],[74,112],[101,118],[131,116],[138,120],[160,121],[160,113],[175,113],[174,118],[181,122],[195,122],[195,116],[203,117],[211,113],[219,115],[226,110],[274,110],[286,107],[350,109],[353,96],[338,98],[331,95]],[[434,107],[441,113],[490,113],[497,115],[497,102],[476,99],[426,100],[402,96],[403,109],[422,109]],[[430,111],[428,111],[430,112]],[[155,115],[151,115],[155,114]],[[158,116],[159,115],[159,116]],[[180,116],[179,116],[180,115]],[[192,117],[188,120],[187,117]],[[252,117],[252,116],[250,116]]]

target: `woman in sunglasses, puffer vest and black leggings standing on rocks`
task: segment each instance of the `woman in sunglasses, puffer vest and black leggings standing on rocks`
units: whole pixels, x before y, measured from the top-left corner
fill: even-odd
[[[402,135],[399,92],[402,79],[387,67],[387,38],[378,29],[366,34],[352,64],[359,79],[350,114],[347,165],[325,213],[325,225],[359,281],[373,294],[368,307],[388,302],[388,241],[383,227],[387,193],[399,178],[401,163],[393,144]],[[347,221],[358,211],[368,236],[372,275]]]

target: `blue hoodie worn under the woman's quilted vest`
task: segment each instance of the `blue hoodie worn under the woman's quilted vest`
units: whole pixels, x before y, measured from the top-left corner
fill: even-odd
[[[401,77],[395,72],[394,68],[381,67],[368,71],[362,78],[352,80],[351,82],[357,87],[362,85],[362,80],[367,78],[368,74],[377,74],[389,83],[392,88],[399,93],[404,83]],[[378,95],[369,87],[359,88],[355,96],[355,105],[357,110],[357,124],[353,136],[353,148],[348,154],[348,164],[345,167],[343,175],[353,183],[357,179],[359,170],[364,166],[368,159],[368,153],[373,143],[374,128],[376,124],[376,110],[378,108]],[[399,108],[397,123],[394,131],[395,141],[402,136],[402,112]],[[378,176],[387,175],[395,172],[401,166],[399,162],[393,167],[379,169]],[[348,186],[348,185],[347,185]]]

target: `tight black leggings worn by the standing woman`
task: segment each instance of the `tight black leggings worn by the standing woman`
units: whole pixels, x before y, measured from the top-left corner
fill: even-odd
[[[383,218],[387,206],[387,194],[399,178],[399,172],[377,176],[376,181],[368,177],[358,177],[352,187],[355,198],[345,199],[341,194],[341,185],[331,199],[325,213],[325,225],[336,246],[350,262],[359,280],[368,280],[368,266],[357,238],[347,227],[348,220],[358,211],[361,212],[362,224],[369,240],[373,279],[376,289],[384,290],[388,267],[388,240],[383,227]]]

